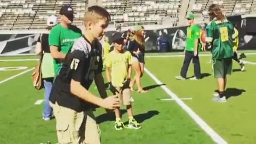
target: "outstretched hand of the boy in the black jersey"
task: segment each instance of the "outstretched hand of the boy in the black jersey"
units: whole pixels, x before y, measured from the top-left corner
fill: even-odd
[[[100,107],[106,109],[115,109],[116,107],[119,107],[119,99],[116,97],[116,95],[102,99]]]

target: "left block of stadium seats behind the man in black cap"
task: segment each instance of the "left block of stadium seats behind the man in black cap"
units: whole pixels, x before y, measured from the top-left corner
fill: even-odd
[[[63,4],[70,4],[75,14],[75,25],[82,24],[88,1],[84,0],[27,0],[0,2],[0,29],[44,29],[49,15],[59,15]]]

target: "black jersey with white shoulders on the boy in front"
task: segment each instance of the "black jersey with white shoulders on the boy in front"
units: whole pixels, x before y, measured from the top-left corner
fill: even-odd
[[[50,101],[77,112],[94,107],[70,92],[71,79],[80,82],[89,90],[95,74],[102,72],[101,45],[98,41],[90,44],[85,37],[78,38],[66,55],[60,74],[57,76],[50,94]]]

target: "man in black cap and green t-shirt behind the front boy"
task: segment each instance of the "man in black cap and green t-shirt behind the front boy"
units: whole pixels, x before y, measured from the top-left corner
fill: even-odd
[[[60,24],[53,27],[49,35],[51,55],[54,59],[55,76],[59,74],[62,67],[62,60],[65,59],[66,54],[76,39],[82,36],[81,29],[71,25],[74,20],[74,11],[71,6],[63,5],[61,7],[60,19]]]

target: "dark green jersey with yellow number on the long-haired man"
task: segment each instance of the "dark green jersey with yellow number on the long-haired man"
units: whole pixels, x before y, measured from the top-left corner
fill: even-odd
[[[212,43],[212,58],[233,57],[233,38],[236,37],[234,26],[227,19],[222,22],[213,19],[206,27],[206,42]]]

